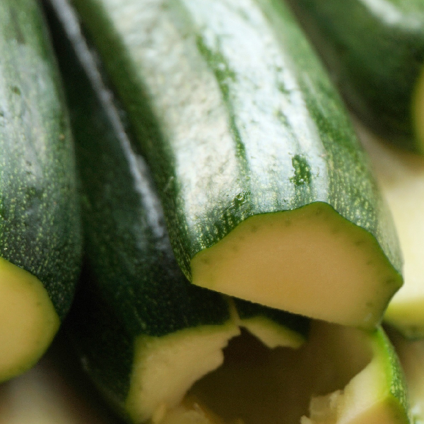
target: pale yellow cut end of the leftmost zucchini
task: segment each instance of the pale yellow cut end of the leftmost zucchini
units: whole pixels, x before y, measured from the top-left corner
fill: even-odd
[[[0,382],[32,367],[59,329],[40,280],[0,258]]]

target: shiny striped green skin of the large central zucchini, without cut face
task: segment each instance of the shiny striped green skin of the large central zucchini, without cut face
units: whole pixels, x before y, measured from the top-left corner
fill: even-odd
[[[367,158],[281,1],[73,3],[153,168],[187,276],[245,218],[315,201],[374,235],[400,271]]]

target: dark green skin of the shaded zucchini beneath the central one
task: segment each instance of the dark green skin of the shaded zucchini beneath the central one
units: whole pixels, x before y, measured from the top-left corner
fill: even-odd
[[[228,326],[230,312],[222,295],[191,285],[179,269],[148,169],[105,101],[110,92],[93,57],[81,37],[73,39],[76,57],[49,17],[71,110],[86,242],[87,269],[68,326],[86,371],[126,416],[131,372],[143,366],[133,363],[136,337],[218,329]]]

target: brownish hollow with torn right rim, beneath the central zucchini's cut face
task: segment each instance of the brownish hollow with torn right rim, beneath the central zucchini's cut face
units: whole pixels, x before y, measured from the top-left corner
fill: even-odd
[[[298,351],[269,350],[245,333],[224,353],[223,367],[156,423],[409,423],[399,360],[382,329],[317,322]]]

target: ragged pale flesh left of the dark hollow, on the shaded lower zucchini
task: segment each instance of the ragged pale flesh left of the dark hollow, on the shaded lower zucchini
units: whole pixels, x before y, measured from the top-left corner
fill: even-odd
[[[161,422],[194,382],[223,363],[223,348],[238,334],[238,327],[230,323],[218,329],[205,326],[169,336],[137,338],[126,399],[131,420],[143,423],[153,417],[153,422]]]

